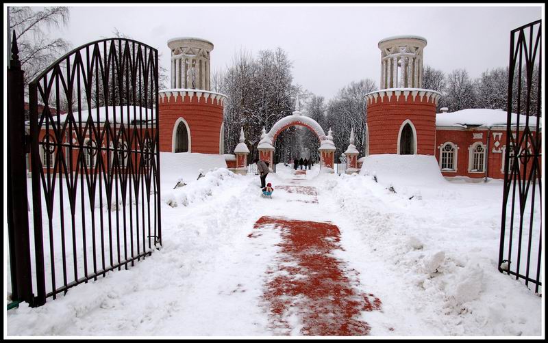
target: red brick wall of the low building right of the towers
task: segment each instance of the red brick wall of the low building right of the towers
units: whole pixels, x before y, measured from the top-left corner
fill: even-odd
[[[515,131],[514,131],[515,133]],[[474,134],[482,134],[482,137],[474,138]],[[534,133],[534,135],[536,135]],[[487,176],[488,178],[504,178],[503,159],[504,148],[506,148],[506,128],[495,128],[490,132],[487,129],[464,129],[450,130],[439,128],[436,131],[436,159],[440,162],[440,146],[447,141],[458,146],[457,150],[457,170],[456,172],[442,172],[443,176],[468,176],[469,178],[484,178],[485,172],[469,172],[469,148],[473,143],[481,141],[487,144],[489,136],[489,146],[486,146],[487,154]],[[497,144],[497,141],[499,144]],[[523,168],[521,169],[523,172]]]

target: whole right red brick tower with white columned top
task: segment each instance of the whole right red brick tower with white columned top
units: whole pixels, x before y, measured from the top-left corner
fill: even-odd
[[[366,94],[368,154],[434,155],[440,94],[421,89],[425,38],[379,42],[381,90]]]

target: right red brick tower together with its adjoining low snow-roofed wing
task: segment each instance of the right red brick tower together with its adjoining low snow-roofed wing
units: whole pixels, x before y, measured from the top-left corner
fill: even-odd
[[[421,88],[425,46],[418,36],[379,42],[382,90],[366,94],[366,154],[434,155],[445,177],[503,178],[506,111],[436,114],[441,95]],[[536,118],[529,126],[533,137],[540,135]],[[525,115],[512,113],[514,138],[520,139],[524,128]],[[520,149],[530,149],[527,139]]]

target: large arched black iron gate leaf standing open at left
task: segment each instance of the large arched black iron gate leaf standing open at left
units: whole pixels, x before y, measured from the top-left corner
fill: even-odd
[[[42,305],[162,243],[158,51],[123,38],[80,46],[29,84],[29,111]]]

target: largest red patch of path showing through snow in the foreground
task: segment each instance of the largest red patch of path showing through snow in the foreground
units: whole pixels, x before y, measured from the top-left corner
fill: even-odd
[[[370,327],[360,314],[380,310],[381,301],[357,290],[358,272],[333,256],[341,249],[336,225],[261,217],[254,228],[265,225],[274,225],[282,234],[263,294],[275,333],[290,334],[297,315],[302,335],[367,335]],[[249,237],[260,235],[254,231]]]

